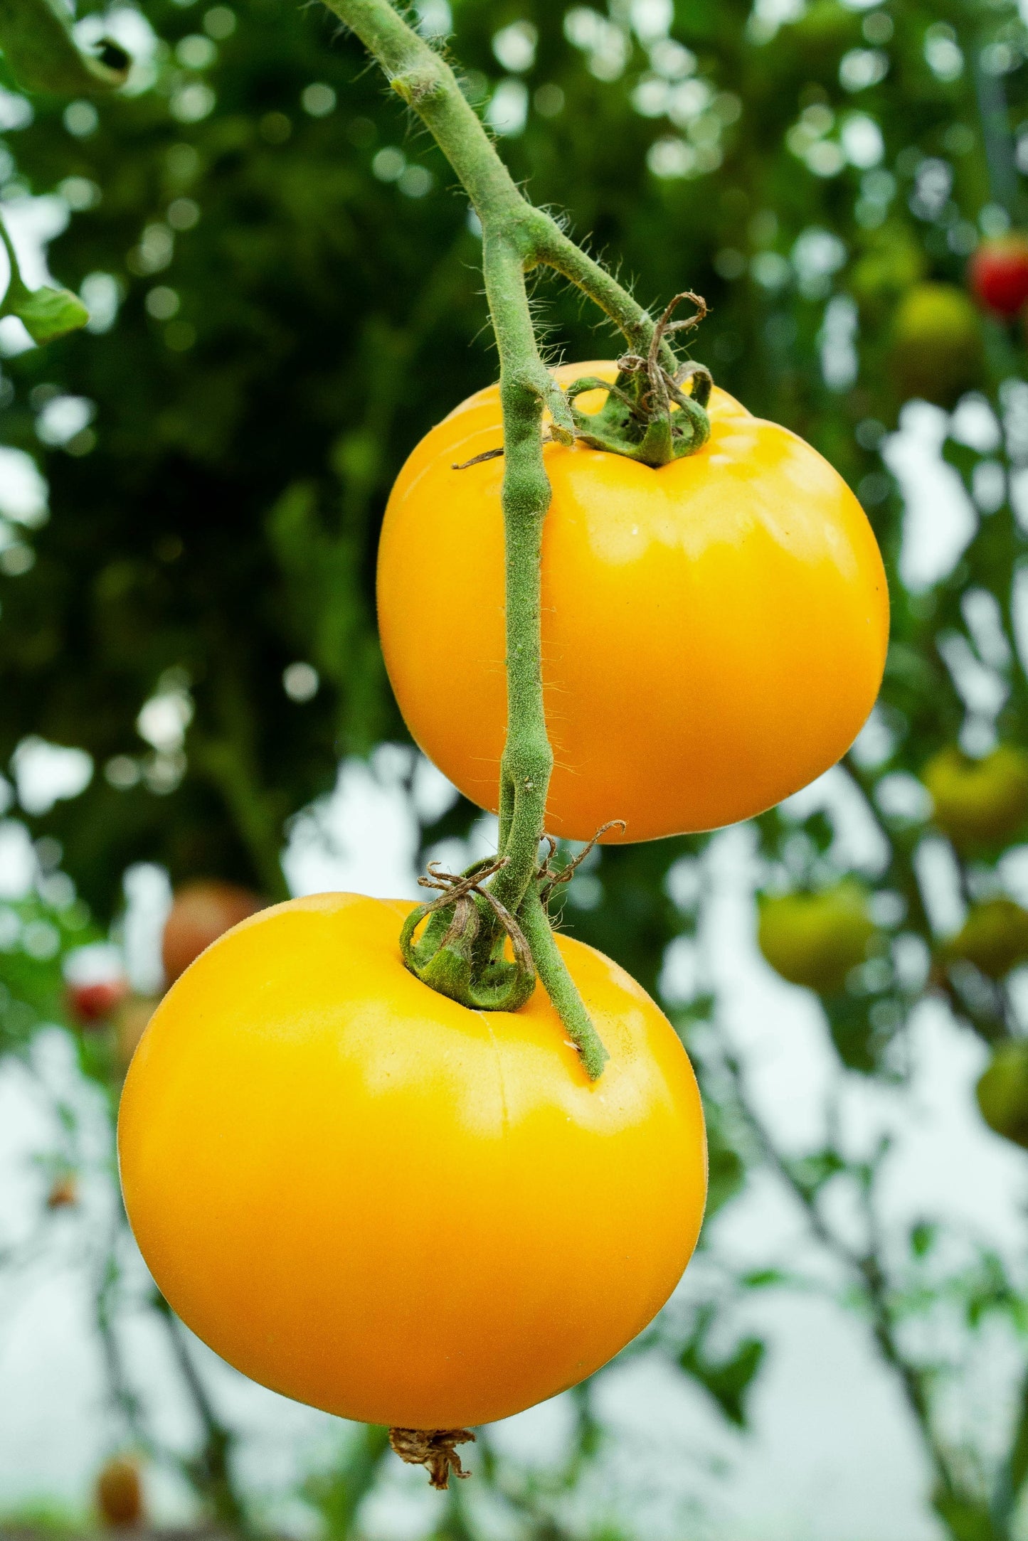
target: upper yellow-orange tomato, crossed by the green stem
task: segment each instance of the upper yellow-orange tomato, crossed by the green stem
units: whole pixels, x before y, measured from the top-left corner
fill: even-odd
[[[616,367],[555,373],[567,384],[613,379]],[[749,818],[834,764],[879,692],[889,604],[860,504],[789,430],[717,388],[709,410],[709,442],[660,470],[544,447],[555,835],[589,840],[623,818],[607,840],[653,840]],[[382,649],[407,726],[492,809],[507,720],[504,462],[453,467],[499,444],[493,385],[410,455],[378,564]]]

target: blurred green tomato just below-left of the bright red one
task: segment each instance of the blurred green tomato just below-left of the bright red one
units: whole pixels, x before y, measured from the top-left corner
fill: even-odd
[[[951,407],[977,385],[983,367],[982,319],[954,284],[915,284],[892,319],[892,371],[903,398]]]

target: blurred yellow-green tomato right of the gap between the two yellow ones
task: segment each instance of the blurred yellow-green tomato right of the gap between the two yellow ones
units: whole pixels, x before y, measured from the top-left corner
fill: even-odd
[[[760,900],[760,951],[791,985],[806,985],[821,995],[843,989],[851,968],[866,959],[874,934],[866,889],[852,878],[821,894]]]

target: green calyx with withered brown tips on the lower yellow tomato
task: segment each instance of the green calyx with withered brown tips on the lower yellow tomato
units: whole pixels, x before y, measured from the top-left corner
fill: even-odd
[[[507,857],[499,857],[475,861],[465,872],[444,872],[430,861],[428,877],[418,881],[442,892],[412,909],[399,934],[410,972],[473,1011],[516,1011],[535,989],[535,962],[524,931],[484,886],[506,865]],[[428,925],[418,937],[422,920]],[[504,957],[507,938],[513,963]]]

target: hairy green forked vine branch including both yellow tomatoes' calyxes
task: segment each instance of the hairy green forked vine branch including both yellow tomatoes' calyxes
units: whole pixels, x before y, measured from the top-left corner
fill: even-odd
[[[456,171],[482,227],[485,296],[499,353],[504,427],[507,743],[501,761],[499,861],[461,877],[432,874],[442,897],[418,906],[404,928],[404,957],[425,983],[478,1009],[516,1009],[538,972],[595,1080],[607,1051],[558,951],[539,869],[553,750],[546,729],[541,660],[543,522],[550,484],[543,456],[544,415],[559,444],[576,438],[610,453],[663,465],[700,448],[709,435],[711,376],[680,365],[669,333],[697,325],[706,307],[675,296],[660,322],[543,210],[533,208],[496,154],[447,62],[393,9],[390,0],[325,0],[379,62],[391,88],[424,120]],[[609,382],[563,391],[539,356],[527,274],[549,267],[578,285],[620,328],[629,351]],[[697,310],[672,322],[681,299]],[[603,410],[575,405],[601,385]],[[616,809],[612,809],[616,814]],[[489,888],[485,880],[492,878]],[[552,883],[549,885],[552,886]],[[425,923],[416,940],[418,926]],[[513,965],[504,949],[510,940]],[[526,957],[527,954],[527,957]]]

